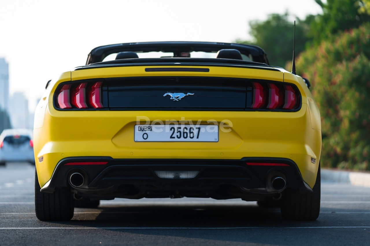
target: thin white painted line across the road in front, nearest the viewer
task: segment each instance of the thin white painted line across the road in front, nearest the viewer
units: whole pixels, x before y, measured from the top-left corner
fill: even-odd
[[[370,226],[305,226],[305,227],[2,227],[1,230],[34,230],[34,229],[206,229],[206,230],[225,230],[225,229],[323,229],[323,228],[370,228]]]

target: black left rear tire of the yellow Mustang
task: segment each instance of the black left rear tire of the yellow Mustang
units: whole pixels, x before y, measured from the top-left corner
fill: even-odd
[[[40,191],[35,171],[35,212],[40,221],[69,221],[73,217],[74,200],[67,187],[57,188],[54,193]]]

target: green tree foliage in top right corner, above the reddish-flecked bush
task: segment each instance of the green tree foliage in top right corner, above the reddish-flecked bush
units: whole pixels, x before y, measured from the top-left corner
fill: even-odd
[[[315,1],[323,9],[323,14],[310,22],[308,35],[316,45],[332,34],[357,28],[370,21],[370,15],[366,13],[369,0],[327,0],[326,4],[321,0]]]

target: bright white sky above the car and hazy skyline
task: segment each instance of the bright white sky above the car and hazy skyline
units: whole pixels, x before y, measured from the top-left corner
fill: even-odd
[[[10,94],[24,92],[31,109],[49,79],[84,65],[97,46],[249,39],[248,21],[286,10],[299,18],[322,12],[314,0],[1,0],[0,57]]]

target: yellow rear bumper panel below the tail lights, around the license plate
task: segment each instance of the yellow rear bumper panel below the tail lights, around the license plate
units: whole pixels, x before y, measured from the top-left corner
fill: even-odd
[[[244,157],[285,158],[296,163],[303,180],[313,187],[321,151],[321,131],[312,128],[306,103],[298,112],[209,111],[70,111],[52,103],[38,109],[43,127],[34,129],[34,152],[40,186],[51,180],[57,164],[67,157],[109,156],[113,159],[241,160]],[[44,110],[44,111],[43,111]],[[137,117],[155,120],[208,120],[232,123],[219,131],[216,143],[135,142]],[[35,119],[38,119],[35,117]],[[140,123],[146,123],[140,121]],[[39,162],[39,158],[43,158]],[[316,159],[316,163],[311,162]]]

